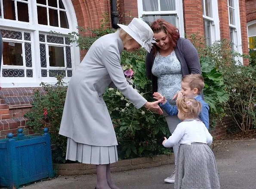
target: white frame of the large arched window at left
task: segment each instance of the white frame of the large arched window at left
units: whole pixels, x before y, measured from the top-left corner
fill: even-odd
[[[57,2],[59,2],[59,1],[57,1]],[[56,78],[54,78],[54,77],[47,77],[47,78],[41,77],[41,69],[42,69],[41,65],[40,65],[40,43],[41,42],[39,41],[39,33],[52,35],[50,32],[52,30],[52,31],[56,31],[57,33],[61,33],[63,36],[65,36],[65,35],[68,35],[68,33],[71,33],[71,31],[78,32],[77,18],[76,18],[76,13],[74,11],[74,6],[73,6],[72,2],[70,0],[62,0],[62,3],[65,6],[65,10],[67,12],[69,29],[38,24],[37,23],[37,11],[33,11],[33,10],[37,10],[36,0],[28,0],[29,22],[7,20],[7,19],[0,18],[0,23],[1,23],[0,28],[1,29],[22,31],[22,32],[28,32],[31,34],[30,43],[31,43],[31,53],[32,53],[31,54],[32,67],[30,69],[33,69],[33,77],[31,77],[31,78],[28,78],[28,77],[3,77],[2,69],[6,69],[8,66],[3,65],[3,61],[2,61],[0,63],[1,64],[0,83],[1,83],[2,88],[40,87],[41,82],[48,82],[50,84],[55,84],[57,82]],[[3,13],[3,3],[1,3],[1,10]],[[8,39],[8,38],[3,38],[3,41],[13,41],[13,40]],[[16,42],[17,40],[14,40],[14,41]],[[18,40],[18,41],[20,41],[20,40]],[[24,46],[22,48],[24,50]],[[24,51],[23,51],[23,53],[24,53]],[[47,54],[47,52],[46,52],[46,54]],[[71,62],[72,62],[72,70],[74,71],[75,68],[80,63],[80,49],[76,44],[72,44],[72,46],[71,46]],[[18,66],[15,66],[15,68],[18,69]],[[71,79],[71,77],[65,77],[64,82],[68,83],[70,81],[70,79]]]

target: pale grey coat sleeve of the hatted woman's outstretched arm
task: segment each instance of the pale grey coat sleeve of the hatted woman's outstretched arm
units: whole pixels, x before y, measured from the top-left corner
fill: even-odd
[[[139,109],[147,100],[142,97],[131,85],[128,84],[120,65],[119,50],[116,46],[109,46],[102,54],[102,63],[108,70],[113,84],[126,96],[134,106]]]

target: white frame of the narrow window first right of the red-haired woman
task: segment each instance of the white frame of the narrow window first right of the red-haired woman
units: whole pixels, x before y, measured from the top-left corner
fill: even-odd
[[[211,8],[212,8],[212,14],[213,17],[209,17],[205,15],[205,0],[203,2],[203,19],[210,21],[210,32],[211,32],[211,44],[213,44],[216,40],[220,40],[220,29],[219,29],[219,11],[218,11],[218,1],[217,0],[211,0]],[[206,31],[204,31],[206,32]],[[211,45],[209,44],[209,45]],[[207,44],[208,45],[208,44]]]

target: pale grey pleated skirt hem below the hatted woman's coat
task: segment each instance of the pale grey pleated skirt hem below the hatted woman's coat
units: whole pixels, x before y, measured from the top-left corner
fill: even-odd
[[[66,159],[84,164],[104,165],[118,161],[117,146],[91,146],[68,138]]]

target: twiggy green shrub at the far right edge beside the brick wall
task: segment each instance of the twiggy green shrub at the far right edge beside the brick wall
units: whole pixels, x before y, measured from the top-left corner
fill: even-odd
[[[237,127],[246,133],[256,128],[256,69],[253,66],[233,65],[225,73],[229,93],[226,113]]]

